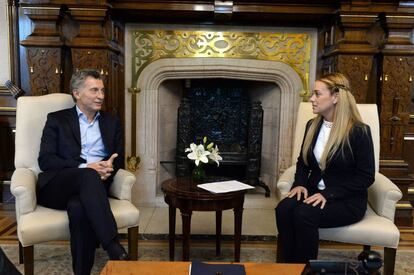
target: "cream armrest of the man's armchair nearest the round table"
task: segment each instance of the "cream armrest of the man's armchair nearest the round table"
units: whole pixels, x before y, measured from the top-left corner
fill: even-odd
[[[134,183],[134,174],[124,169],[119,169],[109,189],[109,195],[119,200],[131,201],[131,189]]]

